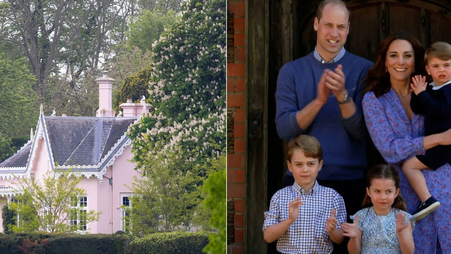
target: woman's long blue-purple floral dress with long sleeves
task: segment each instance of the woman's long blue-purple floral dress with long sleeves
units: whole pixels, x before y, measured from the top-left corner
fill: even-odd
[[[402,173],[402,163],[424,154],[424,117],[414,114],[410,121],[393,89],[376,98],[373,92],[365,94],[362,102],[368,132],[377,150],[400,175],[401,194],[407,211],[413,214],[419,198]],[[422,170],[431,194],[441,206],[417,221],[414,231],[415,254],[451,254],[451,166],[443,165],[436,171]]]

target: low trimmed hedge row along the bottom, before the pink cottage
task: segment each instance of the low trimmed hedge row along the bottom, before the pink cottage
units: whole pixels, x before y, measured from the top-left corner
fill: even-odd
[[[0,234],[0,253],[8,254],[202,254],[207,244],[207,232],[155,233],[143,238],[121,234]]]

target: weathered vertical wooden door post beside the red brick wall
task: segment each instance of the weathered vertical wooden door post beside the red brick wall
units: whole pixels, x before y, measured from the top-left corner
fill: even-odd
[[[267,202],[268,0],[246,0],[247,156],[244,183],[244,253],[266,254],[263,210]],[[254,115],[257,114],[257,115]],[[254,126],[254,121],[256,126]],[[255,132],[255,133],[254,133]]]

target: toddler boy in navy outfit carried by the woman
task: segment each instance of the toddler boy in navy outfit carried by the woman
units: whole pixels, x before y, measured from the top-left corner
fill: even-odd
[[[424,134],[428,136],[451,128],[451,45],[446,42],[433,43],[426,51],[424,60],[426,71],[434,82],[427,85],[426,77],[412,78],[413,84],[410,86],[414,93],[410,107],[414,113],[424,115]],[[403,164],[402,170],[421,200],[413,214],[416,220],[423,219],[440,206],[440,202],[429,193],[426,179],[419,169],[437,170],[450,162],[451,146],[435,146],[424,155],[417,155]]]

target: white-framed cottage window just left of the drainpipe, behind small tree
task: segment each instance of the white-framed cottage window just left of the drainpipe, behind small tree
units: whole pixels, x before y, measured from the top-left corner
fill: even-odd
[[[70,198],[71,212],[69,214],[70,226],[78,232],[87,230],[87,196]]]

